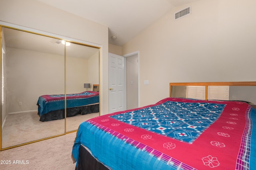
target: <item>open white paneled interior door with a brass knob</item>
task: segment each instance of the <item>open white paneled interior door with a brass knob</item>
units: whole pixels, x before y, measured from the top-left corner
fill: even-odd
[[[108,53],[109,113],[125,110],[124,57]]]

